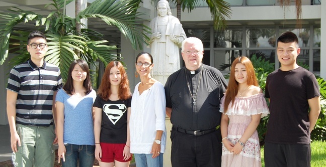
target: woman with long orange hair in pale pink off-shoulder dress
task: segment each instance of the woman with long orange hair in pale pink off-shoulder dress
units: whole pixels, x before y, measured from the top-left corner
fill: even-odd
[[[252,62],[236,58],[220,107],[222,166],[262,166],[257,126],[269,113]]]

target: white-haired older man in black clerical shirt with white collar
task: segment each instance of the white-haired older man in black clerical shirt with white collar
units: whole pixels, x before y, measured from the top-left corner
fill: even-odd
[[[172,166],[221,166],[220,99],[227,83],[217,69],[201,63],[198,38],[182,43],[186,67],[165,85],[167,115],[171,118]]]

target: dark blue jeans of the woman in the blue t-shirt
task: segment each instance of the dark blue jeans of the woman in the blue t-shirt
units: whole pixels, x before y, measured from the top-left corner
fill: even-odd
[[[95,145],[76,145],[65,144],[66,153],[65,161],[62,161],[63,167],[76,167],[77,162],[79,167],[92,167],[95,159]]]

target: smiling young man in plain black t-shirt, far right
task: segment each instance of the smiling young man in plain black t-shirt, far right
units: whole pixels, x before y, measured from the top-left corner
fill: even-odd
[[[320,93],[315,76],[296,64],[299,54],[297,36],[281,34],[277,40],[281,68],[269,74],[266,82],[265,97],[270,99],[266,167],[310,166],[310,132],[320,112]]]

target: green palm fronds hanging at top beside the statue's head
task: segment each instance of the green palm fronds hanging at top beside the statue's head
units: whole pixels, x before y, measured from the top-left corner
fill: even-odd
[[[185,12],[185,9],[188,9],[188,12],[196,9],[199,6],[200,2],[204,0],[170,0],[177,7],[177,18],[181,21],[181,8]],[[151,4],[157,4],[158,0],[150,0]],[[226,28],[226,18],[230,18],[231,8],[230,4],[223,0],[206,0],[206,3],[209,7],[212,18],[214,19],[214,29],[223,30]]]

